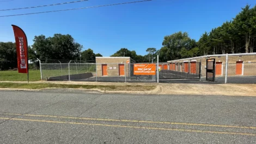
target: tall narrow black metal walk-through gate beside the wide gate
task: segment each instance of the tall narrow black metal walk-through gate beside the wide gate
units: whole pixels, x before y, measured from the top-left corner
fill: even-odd
[[[206,59],[206,80],[215,82],[215,59]]]

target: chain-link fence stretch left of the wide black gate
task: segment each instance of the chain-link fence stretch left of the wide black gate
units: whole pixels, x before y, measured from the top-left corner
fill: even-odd
[[[156,75],[133,74],[134,64],[54,63],[41,64],[44,80],[71,80],[84,82],[156,82]]]

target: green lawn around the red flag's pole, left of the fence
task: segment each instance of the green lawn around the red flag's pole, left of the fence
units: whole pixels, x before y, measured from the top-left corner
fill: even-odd
[[[0,71],[0,80],[27,81],[27,74],[18,73],[18,71]],[[41,80],[40,71],[29,71],[29,81],[37,80]]]

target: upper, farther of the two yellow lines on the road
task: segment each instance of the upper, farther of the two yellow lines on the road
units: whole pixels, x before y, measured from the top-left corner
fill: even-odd
[[[23,114],[11,114],[11,113],[3,113],[3,112],[0,112],[0,114],[6,114],[6,115],[23,115]],[[204,127],[223,127],[223,128],[246,128],[246,129],[256,129],[256,127],[228,126],[228,125],[221,125],[221,124],[181,123],[181,122],[156,122],[156,121],[139,121],[139,120],[116,120],[116,119],[105,119],[105,118],[68,117],[68,116],[31,115],[31,114],[24,114],[23,116],[70,118],[70,119],[77,119],[77,120],[93,120],[93,121],[139,122],[139,123],[156,123],[156,124],[176,124],[176,125],[185,125],[185,126],[204,126]]]

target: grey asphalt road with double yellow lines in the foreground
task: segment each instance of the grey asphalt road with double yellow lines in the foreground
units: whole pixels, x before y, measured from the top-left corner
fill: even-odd
[[[0,143],[256,143],[256,97],[0,91]]]

